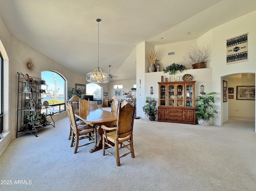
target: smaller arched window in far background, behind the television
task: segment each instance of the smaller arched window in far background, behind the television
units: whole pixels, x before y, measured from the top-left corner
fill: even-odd
[[[93,96],[93,101],[102,104],[102,86],[95,83],[86,84],[86,96]]]

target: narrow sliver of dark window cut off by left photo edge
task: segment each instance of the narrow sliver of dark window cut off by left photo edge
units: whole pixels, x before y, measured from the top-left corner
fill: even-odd
[[[3,131],[3,97],[4,97],[4,80],[3,80],[3,77],[4,77],[4,73],[3,73],[3,70],[4,70],[4,60],[3,60],[3,57],[2,57],[2,54],[0,52],[0,134],[2,133]]]

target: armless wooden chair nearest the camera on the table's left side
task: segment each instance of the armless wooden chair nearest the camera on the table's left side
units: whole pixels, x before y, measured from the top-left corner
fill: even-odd
[[[77,153],[78,147],[89,145],[91,143],[97,144],[96,139],[96,129],[91,125],[84,125],[83,127],[78,127],[76,123],[76,118],[74,114],[73,105],[68,101],[68,112],[70,113],[71,127],[72,127],[72,141],[70,147],[75,146],[74,153]],[[82,139],[89,139],[89,142],[79,145],[79,141]],[[90,141],[93,139],[94,141]]]

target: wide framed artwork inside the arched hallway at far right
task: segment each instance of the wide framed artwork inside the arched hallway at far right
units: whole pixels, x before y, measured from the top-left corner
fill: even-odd
[[[236,99],[255,100],[255,86],[236,86]]]

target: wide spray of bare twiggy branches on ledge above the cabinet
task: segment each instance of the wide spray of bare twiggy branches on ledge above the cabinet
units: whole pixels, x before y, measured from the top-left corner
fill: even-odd
[[[212,48],[210,47],[210,44],[203,47],[200,47],[198,45],[194,47],[190,46],[190,48],[186,49],[183,60],[191,65],[198,62],[207,62],[209,60],[211,52]]]

